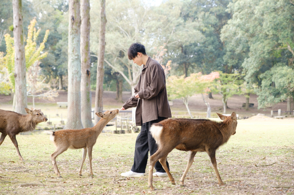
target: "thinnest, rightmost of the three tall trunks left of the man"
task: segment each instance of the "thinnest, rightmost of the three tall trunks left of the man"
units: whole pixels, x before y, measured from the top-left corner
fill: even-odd
[[[96,96],[95,96],[95,111],[103,111],[103,77],[104,77],[104,52],[105,52],[105,25],[106,25],[106,13],[105,13],[105,0],[100,1],[100,29],[99,29],[99,53],[98,53],[98,65],[97,65],[97,83],[96,83]],[[95,115],[95,124],[98,123],[99,117]]]

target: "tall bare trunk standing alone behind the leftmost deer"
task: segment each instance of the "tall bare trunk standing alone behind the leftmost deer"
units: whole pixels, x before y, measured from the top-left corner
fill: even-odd
[[[13,37],[14,37],[14,69],[15,69],[15,111],[26,114],[26,68],[25,68],[25,44],[23,28],[22,0],[13,0]]]

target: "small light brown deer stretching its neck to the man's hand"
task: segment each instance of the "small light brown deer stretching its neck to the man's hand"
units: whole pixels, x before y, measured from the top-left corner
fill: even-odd
[[[50,131],[50,140],[54,143],[56,149],[55,152],[51,154],[51,160],[54,167],[54,171],[57,177],[62,177],[58,170],[56,164],[56,157],[61,153],[67,151],[68,149],[83,149],[82,154],[82,164],[79,169],[79,175],[82,175],[82,168],[86,155],[88,152],[89,165],[90,165],[90,175],[94,175],[92,171],[92,149],[96,144],[97,138],[106,124],[112,120],[119,110],[96,112],[95,114],[101,119],[92,128],[85,128],[81,130],[58,130]]]

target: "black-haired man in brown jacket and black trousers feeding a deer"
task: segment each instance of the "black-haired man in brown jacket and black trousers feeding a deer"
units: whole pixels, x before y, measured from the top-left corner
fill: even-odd
[[[136,108],[136,126],[141,126],[135,144],[134,164],[131,171],[122,173],[125,177],[144,176],[147,166],[148,151],[150,156],[157,151],[157,145],[149,130],[153,123],[172,117],[168,102],[166,80],[161,65],[147,56],[145,46],[141,43],[133,43],[128,49],[128,58],[134,63],[144,65],[138,84],[135,86],[135,94],[128,99],[122,110],[131,107]],[[169,163],[167,162],[169,168]],[[155,164],[154,176],[168,176],[160,162]],[[170,168],[169,168],[170,169]]]

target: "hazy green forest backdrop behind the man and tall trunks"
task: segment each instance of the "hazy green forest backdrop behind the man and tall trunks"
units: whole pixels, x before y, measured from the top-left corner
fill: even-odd
[[[91,89],[95,90],[100,4],[90,1],[90,6]],[[28,25],[34,18],[35,28],[40,30],[35,40],[37,49],[48,36],[40,52],[47,56],[39,59],[38,74],[39,80],[50,88],[48,90],[67,90],[68,8],[67,0],[23,0],[25,40]],[[168,85],[172,85],[172,81],[178,85],[185,78],[195,79],[195,75],[200,78],[199,73],[219,72],[220,76],[206,92],[222,95],[224,112],[231,95],[249,97],[250,93],[258,95],[259,108],[287,100],[287,110],[292,110],[292,0],[164,0],[161,3],[107,0],[106,18],[103,88],[116,90],[119,101],[122,101],[122,91],[131,91],[138,82],[141,68],[127,59],[127,49],[131,43],[141,42],[147,54],[165,68]],[[4,35],[13,37],[12,22],[12,1],[1,0],[2,57],[9,53]],[[2,63],[0,93],[8,94],[12,81],[5,77],[4,68],[7,67]],[[193,78],[190,81],[196,83]],[[189,90],[191,86],[187,84],[186,87]],[[176,98],[182,98],[184,103],[188,99],[183,95]]]

